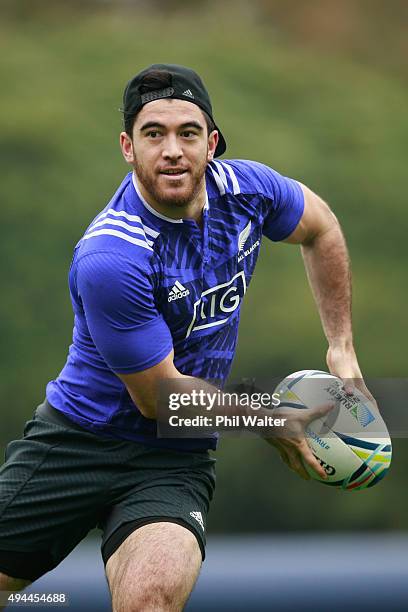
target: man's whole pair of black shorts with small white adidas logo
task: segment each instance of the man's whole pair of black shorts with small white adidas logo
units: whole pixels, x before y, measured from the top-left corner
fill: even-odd
[[[36,580],[94,527],[106,564],[132,531],[158,521],[192,531],[204,559],[214,488],[208,451],[97,436],[41,404],[0,468],[0,572]]]

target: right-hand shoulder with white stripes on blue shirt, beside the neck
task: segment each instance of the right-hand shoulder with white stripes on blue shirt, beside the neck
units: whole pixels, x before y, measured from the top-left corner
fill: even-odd
[[[247,159],[214,160],[209,172],[221,194],[259,194],[273,199],[282,182],[292,181],[266,164]]]

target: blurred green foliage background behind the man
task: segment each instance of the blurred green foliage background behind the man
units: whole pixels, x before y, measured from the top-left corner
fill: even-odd
[[[64,364],[72,250],[127,172],[117,109],[153,62],[202,75],[227,157],[330,202],[363,371],[407,376],[407,16],[402,0],[0,0],[0,446]],[[299,250],[265,241],[232,379],[326,369],[325,351]],[[353,495],[302,482],[261,440],[226,438],[212,532],[406,529],[408,448],[394,447],[390,475]]]

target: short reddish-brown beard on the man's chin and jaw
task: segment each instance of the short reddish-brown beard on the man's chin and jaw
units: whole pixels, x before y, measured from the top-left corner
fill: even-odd
[[[194,201],[203,185],[203,178],[207,168],[207,156],[203,157],[194,164],[193,168],[182,175],[178,185],[163,184],[165,175],[155,170],[149,170],[135,158],[135,171],[137,178],[143,185],[145,191],[151,196],[152,200],[161,206],[175,206],[183,208]],[[172,164],[167,164],[170,168]],[[177,164],[173,164],[175,167]]]

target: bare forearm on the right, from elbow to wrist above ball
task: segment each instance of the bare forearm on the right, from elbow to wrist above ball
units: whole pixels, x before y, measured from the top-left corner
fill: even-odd
[[[351,349],[351,270],[339,224],[302,244],[302,255],[329,346]]]

